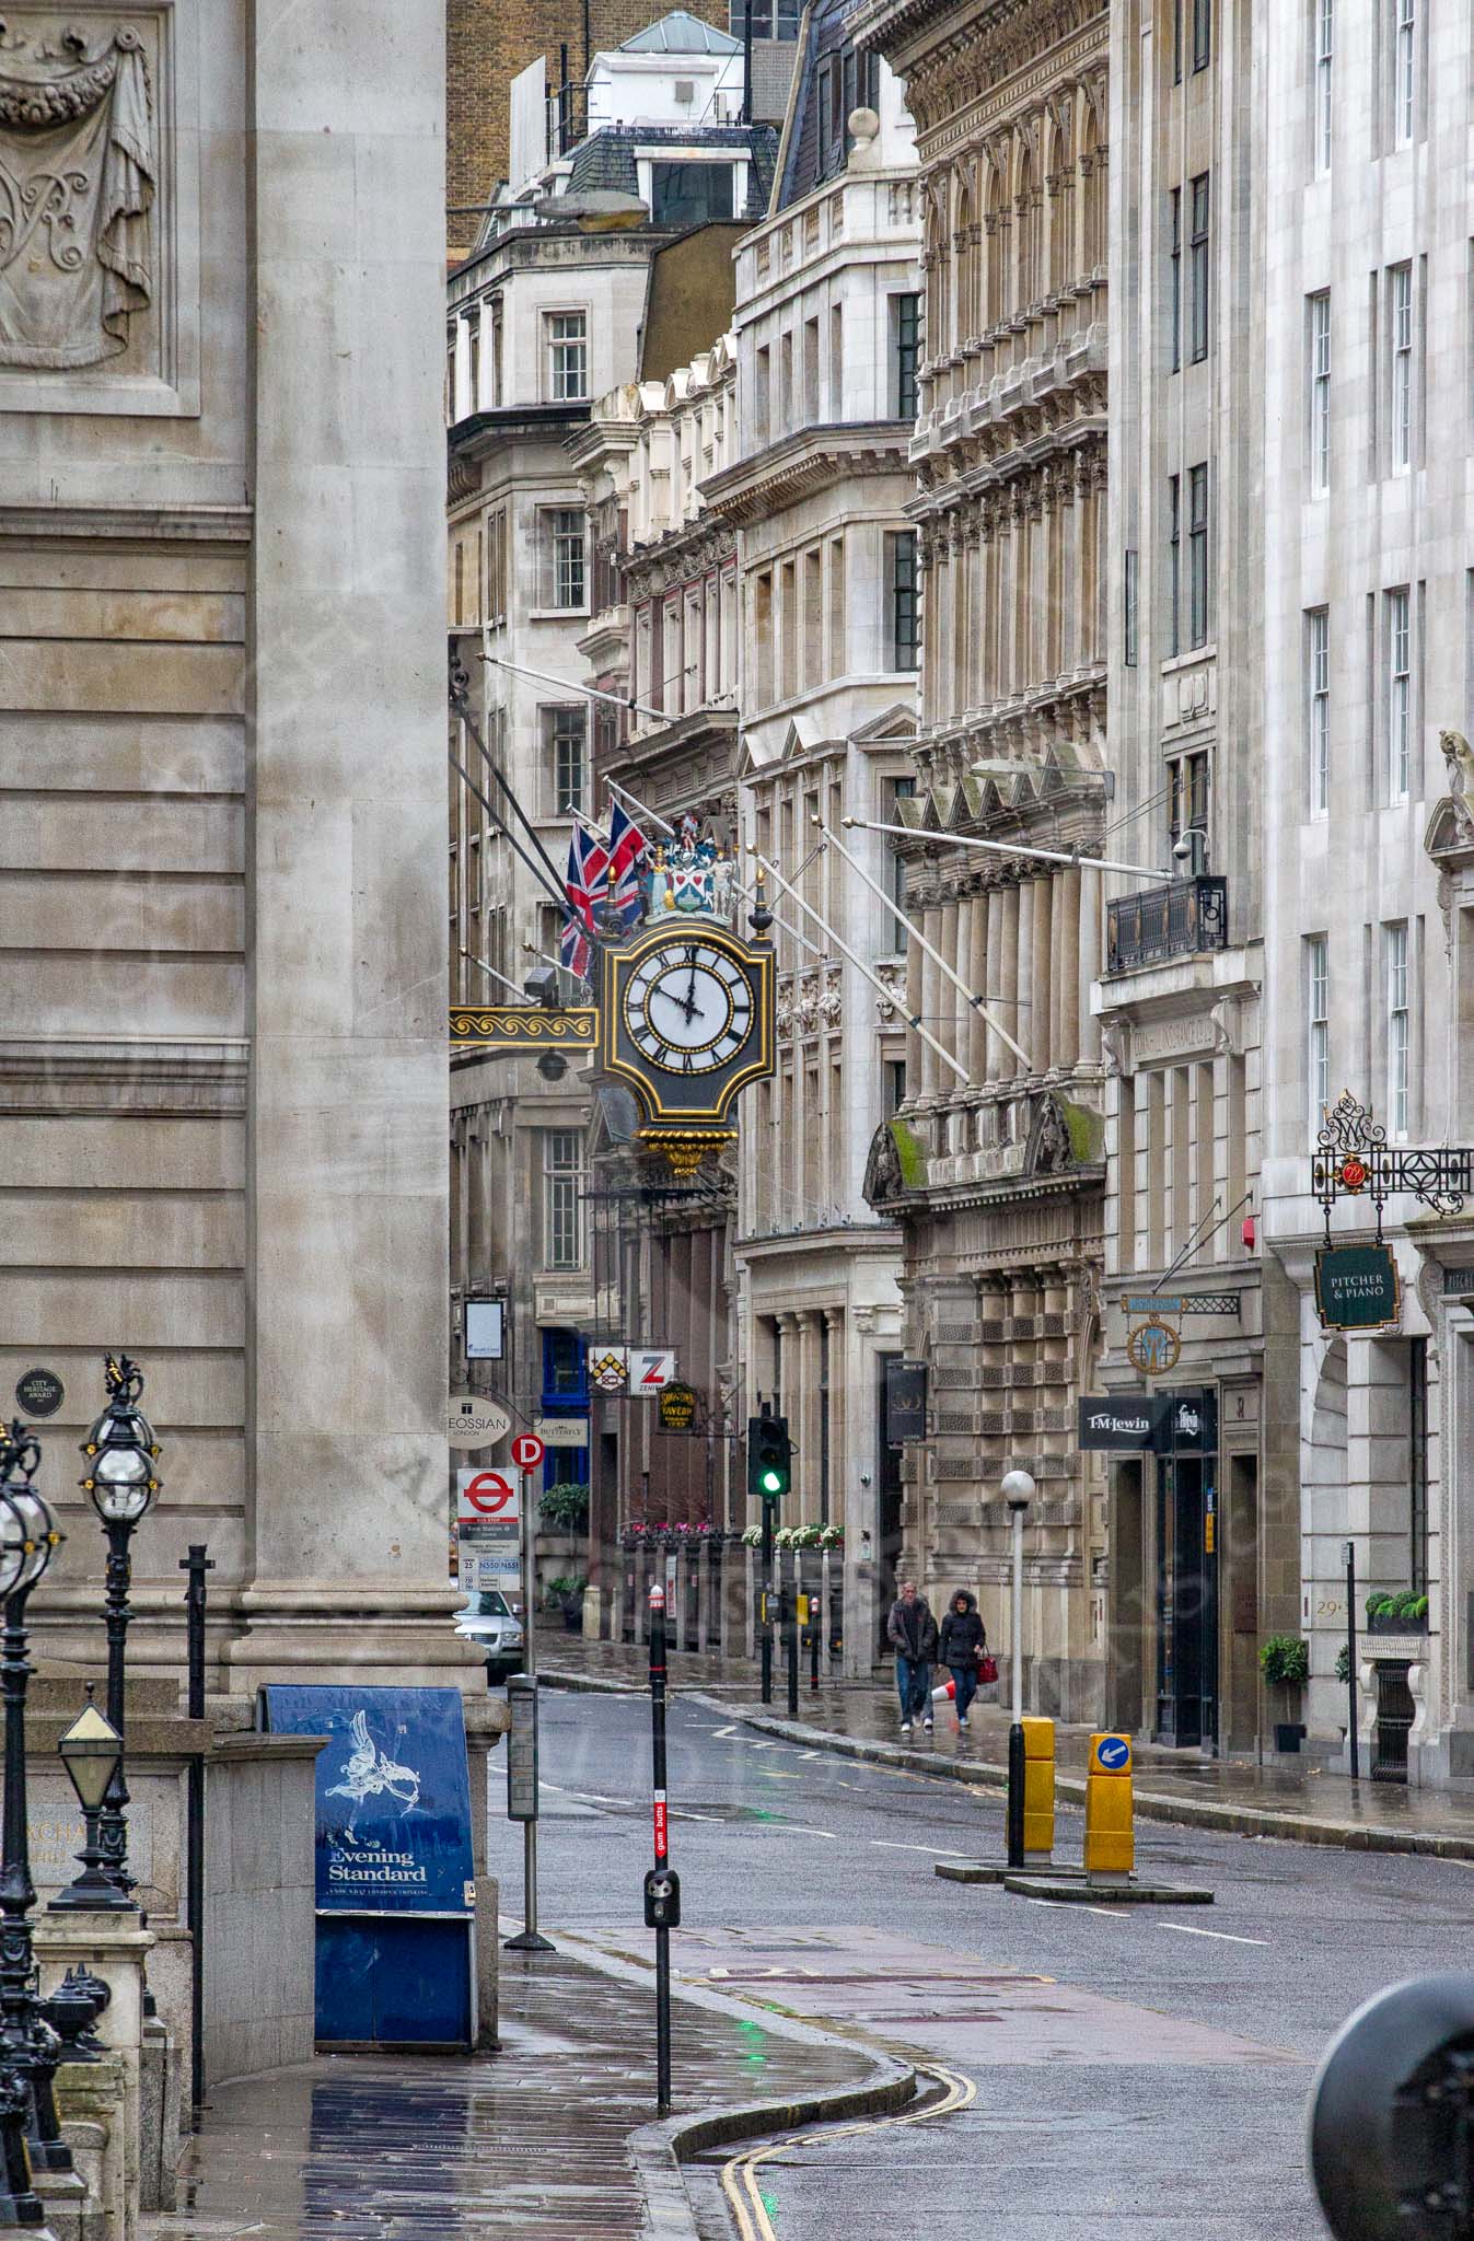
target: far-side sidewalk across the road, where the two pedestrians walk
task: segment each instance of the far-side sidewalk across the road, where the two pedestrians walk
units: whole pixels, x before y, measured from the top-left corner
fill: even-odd
[[[542,1674],[567,1685],[643,1687],[645,1649],[621,1643],[585,1643],[576,1636],[549,1643]],[[670,1656],[670,1683],[679,1694],[703,1694],[771,1735],[802,1737],[853,1757],[878,1757],[952,1775],[961,1782],[1001,1784],[1008,1757],[1008,1714],[997,1705],[974,1705],[968,1735],[957,1732],[948,1705],[936,1705],[936,1730],[898,1735],[896,1692],[889,1681],[822,1681],[811,1692],[800,1676],[797,1726],[786,1721],[782,1665],[773,1674],[773,1703],[759,1703],[757,1670],[746,1661]],[[1084,1800],[1089,1726],[1055,1728],[1057,1795]],[[1147,1820],[1183,1822],[1241,1835],[1277,1835],[1302,1844],[1346,1844],[1369,1851],[1434,1853],[1474,1860],[1474,1784],[1458,1791],[1407,1788],[1393,1782],[1351,1782],[1313,1768],[1250,1759],[1201,1759],[1196,1752],[1136,1746],[1136,1811]]]

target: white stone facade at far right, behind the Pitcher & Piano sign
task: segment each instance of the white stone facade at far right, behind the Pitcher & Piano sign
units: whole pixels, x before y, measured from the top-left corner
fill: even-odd
[[[1319,31],[1263,58],[1266,1246],[1299,1338],[1302,1717],[1340,1746],[1351,1540],[1358,1600],[1427,1596],[1362,1634],[1362,1770],[1429,1782],[1474,1773],[1474,1201],[1389,1199],[1398,1320],[1324,1331],[1308,1154],[1342,1091],[1393,1147],[1474,1143],[1467,25]],[[1333,1233],[1371,1242],[1373,1210]]]

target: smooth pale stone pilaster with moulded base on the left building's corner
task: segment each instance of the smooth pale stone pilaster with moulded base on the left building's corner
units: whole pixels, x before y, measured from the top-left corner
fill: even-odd
[[[300,0],[246,52],[237,1690],[345,1667],[484,1685],[446,1584],[444,9],[394,13],[392,94],[385,31],[383,9]]]

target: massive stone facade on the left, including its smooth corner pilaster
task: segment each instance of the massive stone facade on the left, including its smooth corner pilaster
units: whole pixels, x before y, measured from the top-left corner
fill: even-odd
[[[242,1690],[482,1683],[437,1304],[444,13],[392,11],[392,74],[388,13],[22,0],[0,56],[29,206],[38,85],[76,123],[0,311],[4,1412],[65,1387],[34,1616],[96,1661],[76,1443],[125,1349],[164,1448],[130,1658],[181,1665],[206,1542]]]

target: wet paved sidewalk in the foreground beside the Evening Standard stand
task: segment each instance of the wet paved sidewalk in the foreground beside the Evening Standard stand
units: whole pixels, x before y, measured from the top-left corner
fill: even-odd
[[[504,1952],[500,2055],[318,2055],[217,2086],[186,2207],[141,2241],[697,2241],[677,2154],[912,2091],[898,2064],[717,1994],[672,2001],[672,2082],[656,2127],[645,1970]]]

